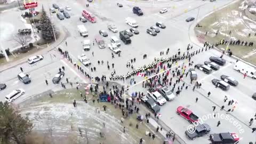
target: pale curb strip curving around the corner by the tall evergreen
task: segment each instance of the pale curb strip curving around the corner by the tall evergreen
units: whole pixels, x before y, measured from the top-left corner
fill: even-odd
[[[54,44],[56,44],[55,46],[53,46],[53,47],[51,47],[51,46],[49,46],[49,47],[46,47],[46,48],[44,48],[43,50],[40,50],[40,51],[37,51],[37,52],[35,52],[35,53],[33,53],[33,54],[30,54],[30,55],[28,55],[27,57],[30,57],[31,55],[36,55],[36,54],[42,54],[42,53],[44,53],[44,52],[49,52],[49,51],[51,51],[51,50],[53,50],[53,49],[55,49],[57,46],[59,46],[63,41],[65,41],[65,39],[67,38],[66,36],[66,32],[65,32],[65,30],[64,30],[64,28],[62,28],[62,32],[63,32],[63,39],[57,39],[57,41],[56,42],[53,42],[52,44],[51,44],[51,46],[52,45],[54,45]],[[61,35],[61,34],[60,34]],[[61,36],[59,37],[59,38],[61,38]],[[59,41],[59,42],[58,42]],[[18,65],[20,65],[20,64],[22,64],[22,63],[25,63],[26,61],[27,61],[27,57],[26,58],[22,58],[22,59],[20,59],[20,60],[17,60],[17,61],[13,61],[13,63],[15,63],[15,62],[17,62],[17,63],[15,63],[15,64],[13,64],[12,65],[12,62],[11,63],[6,63],[5,65],[10,65],[10,66],[6,66],[6,68],[1,68],[1,67],[4,67],[5,65],[3,65],[3,66],[1,66],[0,68],[1,68],[1,70],[0,70],[0,73],[2,72],[2,71],[5,71],[5,70],[7,70],[7,69],[10,69],[10,68],[13,68],[13,67],[16,67],[16,66],[18,66]]]

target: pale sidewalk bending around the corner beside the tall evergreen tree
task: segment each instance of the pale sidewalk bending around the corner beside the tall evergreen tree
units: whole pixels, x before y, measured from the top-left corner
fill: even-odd
[[[63,27],[59,27],[59,31],[60,31],[60,35],[56,42],[51,43],[48,47],[46,47],[42,50],[39,50],[31,55],[28,55],[27,57],[21,58],[20,60],[11,61],[11,62],[6,63],[3,66],[0,66],[0,69],[1,69],[0,73],[6,69],[18,66],[21,63],[26,62],[28,57],[31,57],[33,55],[41,55],[41,54],[47,53],[47,52],[51,51],[52,49],[54,49],[55,47],[59,46],[62,42],[65,41],[65,39],[67,37],[66,31],[63,29]],[[35,46],[37,46],[37,45],[35,45]],[[38,46],[38,47],[40,47],[40,46]]]

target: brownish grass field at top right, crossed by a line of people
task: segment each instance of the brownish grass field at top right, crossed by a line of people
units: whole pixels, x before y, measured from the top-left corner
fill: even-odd
[[[241,0],[210,14],[198,22],[203,27],[196,27],[195,34],[199,41],[208,41],[212,44],[219,42],[220,39],[229,40],[230,38],[240,39],[241,42],[254,42],[252,47],[230,45],[229,49],[237,57],[256,65],[256,22],[246,17],[244,7],[244,1]],[[218,30],[219,33],[216,35]],[[205,35],[206,31],[207,35]],[[251,34],[250,37],[249,34]],[[219,45],[218,48],[225,50],[226,45]]]

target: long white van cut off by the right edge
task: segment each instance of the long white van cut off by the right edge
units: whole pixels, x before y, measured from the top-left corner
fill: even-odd
[[[246,73],[246,75],[251,77],[252,79],[256,79],[256,69],[242,61],[237,61],[234,65],[234,69],[237,70],[239,73]]]

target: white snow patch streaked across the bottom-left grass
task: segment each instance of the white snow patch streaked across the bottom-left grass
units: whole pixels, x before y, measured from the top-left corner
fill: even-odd
[[[119,123],[119,119],[111,116],[103,111],[97,113],[95,107],[92,107],[82,101],[77,102],[77,107],[68,103],[47,103],[41,102],[34,105],[20,108],[21,115],[28,116],[34,123],[34,129],[41,132],[49,132],[51,128],[54,135],[58,137],[66,137],[71,131],[71,125],[78,127],[82,131],[88,131],[90,139],[98,139],[99,132],[102,131],[103,123],[106,124],[104,129],[106,133],[115,133],[122,143],[132,144],[136,141],[127,133],[123,133],[123,126]],[[129,139],[129,141],[128,141]]]

